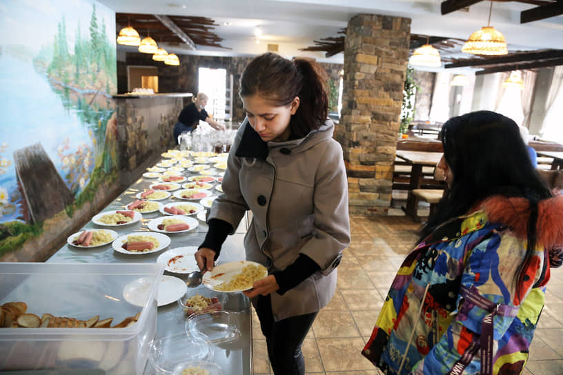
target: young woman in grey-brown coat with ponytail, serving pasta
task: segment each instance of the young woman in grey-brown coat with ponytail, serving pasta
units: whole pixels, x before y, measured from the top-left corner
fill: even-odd
[[[342,147],[332,138],[318,72],[310,61],[272,53],[245,68],[239,94],[246,119],[195,254],[201,270],[212,270],[226,236],[252,211],[246,259],[265,265],[268,276],[244,294],[278,375],[304,374],[303,340],[335,292],[335,268],[350,243]]]

